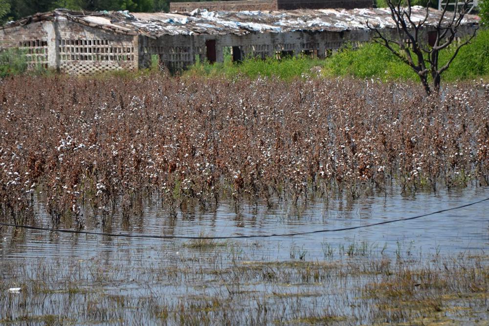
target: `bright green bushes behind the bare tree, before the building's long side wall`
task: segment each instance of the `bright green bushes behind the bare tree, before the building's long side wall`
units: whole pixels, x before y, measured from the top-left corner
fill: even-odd
[[[440,64],[444,65],[453,55],[456,44],[440,52]],[[224,63],[200,63],[190,67],[185,74],[205,76],[275,76],[291,80],[304,74],[311,75],[314,67],[321,67],[322,74],[327,77],[353,76],[357,78],[379,78],[383,81],[413,80],[418,76],[409,67],[378,43],[366,43],[358,48],[351,46],[341,49],[325,60],[306,57],[266,60],[250,58],[242,63],[231,62],[230,56],[225,56]],[[489,76],[489,30],[480,30],[472,42],[462,47],[445,71],[445,81],[467,80]]]

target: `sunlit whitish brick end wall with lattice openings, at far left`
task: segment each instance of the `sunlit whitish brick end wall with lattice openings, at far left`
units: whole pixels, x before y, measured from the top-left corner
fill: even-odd
[[[21,49],[30,68],[53,68],[77,75],[137,70],[137,41],[137,36],[69,21],[33,22],[0,30],[0,50]]]

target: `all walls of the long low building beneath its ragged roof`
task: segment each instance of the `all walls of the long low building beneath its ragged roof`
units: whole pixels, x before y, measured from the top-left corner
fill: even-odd
[[[459,37],[473,32],[476,25],[464,25]],[[428,42],[431,27],[420,30]],[[395,34],[395,29],[383,29]],[[25,50],[30,67],[43,66],[77,75],[111,70],[137,70],[149,67],[152,57],[171,71],[185,69],[197,60],[233,60],[311,56],[324,58],[345,44],[368,42],[368,29],[345,31],[294,31],[283,33],[163,35],[151,38],[135,33],[114,32],[68,20],[46,20],[0,29],[0,49]]]

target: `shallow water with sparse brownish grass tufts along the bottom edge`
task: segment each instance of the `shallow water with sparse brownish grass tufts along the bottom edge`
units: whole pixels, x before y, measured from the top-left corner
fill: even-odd
[[[234,245],[234,244],[232,244]],[[487,257],[3,261],[0,323],[485,325]],[[7,272],[8,271],[8,272]],[[22,288],[7,291],[9,284]]]

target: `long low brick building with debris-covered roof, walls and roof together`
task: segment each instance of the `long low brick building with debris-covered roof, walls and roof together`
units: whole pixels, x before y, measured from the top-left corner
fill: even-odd
[[[413,14],[422,19],[424,9],[414,7]],[[440,15],[430,10],[428,26]],[[226,51],[235,61],[300,54],[323,58],[346,43],[371,40],[367,20],[384,31],[394,31],[388,9],[196,9],[190,13],[58,9],[1,27],[0,48],[18,47],[25,51],[29,65],[70,74],[137,70],[148,67],[152,57],[175,71],[197,60],[222,62]],[[473,31],[478,22],[477,16],[466,16],[460,36]]]

